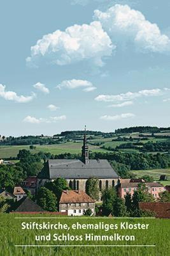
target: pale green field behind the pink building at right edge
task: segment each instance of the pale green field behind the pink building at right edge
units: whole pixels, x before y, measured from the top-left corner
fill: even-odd
[[[170,185],[170,169],[138,170],[131,172],[136,174],[137,177],[142,177],[143,175],[150,175],[154,178],[155,181],[159,181],[160,175],[166,175],[168,180],[161,181],[161,184],[163,184],[164,186]]]

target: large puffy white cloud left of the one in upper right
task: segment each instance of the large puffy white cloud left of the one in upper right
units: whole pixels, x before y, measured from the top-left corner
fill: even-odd
[[[44,35],[31,47],[31,57],[26,61],[35,65],[39,58],[43,58],[47,63],[67,65],[90,59],[97,66],[102,66],[102,58],[110,56],[115,48],[101,23],[94,21],[90,25],[75,24],[65,31],[56,30]]]

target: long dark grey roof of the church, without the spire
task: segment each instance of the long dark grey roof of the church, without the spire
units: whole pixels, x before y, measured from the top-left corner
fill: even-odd
[[[39,179],[118,179],[117,173],[113,170],[107,160],[89,160],[84,164],[79,159],[52,159],[48,160],[41,172]]]

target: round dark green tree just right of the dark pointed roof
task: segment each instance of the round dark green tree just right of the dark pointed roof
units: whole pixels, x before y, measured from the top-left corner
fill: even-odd
[[[47,188],[40,188],[37,195],[37,204],[41,206],[45,211],[54,212],[57,211],[57,198]]]

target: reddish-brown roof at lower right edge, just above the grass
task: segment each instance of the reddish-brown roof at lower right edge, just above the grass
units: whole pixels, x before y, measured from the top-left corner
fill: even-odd
[[[139,209],[156,213],[157,218],[170,218],[170,203],[139,203]]]

